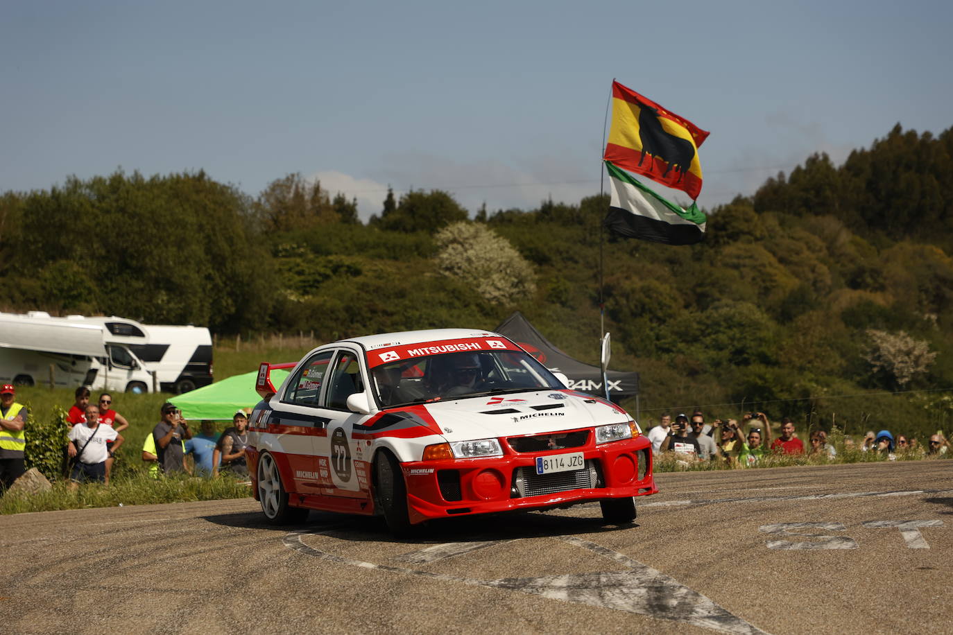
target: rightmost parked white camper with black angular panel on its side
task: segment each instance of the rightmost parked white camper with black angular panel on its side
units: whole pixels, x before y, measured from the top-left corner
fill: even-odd
[[[206,327],[145,325],[149,343],[132,350],[155,371],[159,389],[181,394],[212,383],[212,333]]]

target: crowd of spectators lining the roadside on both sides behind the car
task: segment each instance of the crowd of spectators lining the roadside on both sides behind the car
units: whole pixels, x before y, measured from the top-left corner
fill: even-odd
[[[109,392],[101,393],[97,401],[91,403],[90,389],[79,387],[74,397],[67,414],[69,444],[64,450],[71,487],[87,482],[109,484],[116,452],[125,442],[122,431],[130,424],[114,409]],[[10,384],[0,387],[0,492],[26,471],[24,450],[28,443],[30,413],[16,403],[15,398],[15,387]],[[175,473],[206,478],[221,473],[242,479],[248,476],[245,462],[248,414],[245,410],[237,410],[232,426],[220,434],[216,433],[213,421],[202,421],[194,433],[182,411],[170,402],[162,405],[159,415],[159,422],[146,435],[141,449],[142,461],[152,477]],[[804,455],[825,460],[838,456],[838,449],[830,443],[823,429],[801,427],[807,439],[805,445],[793,420],[784,417],[778,424],[780,436],[772,438],[772,422],[763,412],[748,412],[740,421],[715,419],[709,424],[700,408],[696,408],[690,417],[679,413],[674,420],[670,413],[662,414],[659,425],[648,429],[647,437],[657,457],[671,456],[682,466],[720,463],[751,467],[771,455]],[[876,434],[870,430],[857,443],[851,437],[843,437],[842,451],[858,450],[876,452],[889,460],[953,456],[950,443],[939,431],[923,446],[915,437],[902,434],[895,437],[886,429]]]

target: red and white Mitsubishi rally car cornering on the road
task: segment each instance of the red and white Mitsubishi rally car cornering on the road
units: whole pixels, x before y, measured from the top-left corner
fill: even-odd
[[[598,501],[610,523],[658,490],[622,408],[569,390],[506,337],[445,328],[314,348],[275,389],[262,364],[246,453],[274,524],[308,509],[435,518]]]

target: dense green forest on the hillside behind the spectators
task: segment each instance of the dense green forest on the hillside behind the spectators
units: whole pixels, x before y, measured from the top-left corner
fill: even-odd
[[[900,125],[836,166],[808,157],[707,209],[706,239],[605,237],[607,197],[531,210],[389,192],[355,201],[292,174],[253,198],[204,172],[118,171],[0,196],[4,310],[107,313],[324,340],[493,328],[519,309],[558,347],[642,375],[640,412],[759,408],[915,433],[953,420],[953,129]]]

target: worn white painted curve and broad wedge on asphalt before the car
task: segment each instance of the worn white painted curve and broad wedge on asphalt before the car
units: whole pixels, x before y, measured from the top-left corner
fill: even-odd
[[[434,573],[401,566],[375,565],[373,563],[352,560],[342,556],[316,549],[305,545],[302,537],[306,535],[332,536],[328,530],[294,531],[284,537],[285,546],[300,553],[304,553],[331,562],[361,568],[377,569],[391,573],[416,575],[431,580],[441,580],[464,585],[489,586],[505,588],[521,593],[540,595],[552,600],[573,602],[584,605],[601,606],[615,610],[648,615],[659,620],[684,622],[690,625],[710,628],[726,633],[763,633],[755,625],[751,625],[740,617],[701,595],[691,588],[679,584],[677,580],[664,573],[643,565],[628,556],[613,551],[604,546],[596,545],[575,536],[562,536],[561,540],[584,549],[588,549],[600,556],[608,558],[619,565],[626,566],[628,571],[606,571],[595,573],[567,573],[555,576],[538,578],[501,578],[497,580],[477,580],[464,578],[445,573]],[[510,541],[494,541],[492,543],[467,543],[473,546],[472,550],[484,548]],[[427,547],[415,553],[449,553],[454,551],[451,545],[437,545]],[[407,554],[413,555],[413,554]],[[456,555],[456,554],[455,554]],[[404,560],[407,556],[402,557]]]

